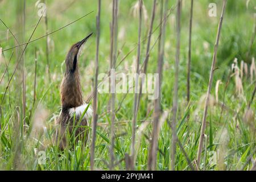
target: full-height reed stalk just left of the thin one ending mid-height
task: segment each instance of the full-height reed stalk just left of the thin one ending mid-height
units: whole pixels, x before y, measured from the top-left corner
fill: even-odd
[[[177,100],[178,100],[178,89],[179,89],[179,62],[180,62],[180,16],[181,16],[181,5],[182,1],[177,0],[177,43],[176,43],[176,60],[175,60],[175,84],[174,84],[174,102],[172,105],[172,151],[171,154],[171,170],[175,170],[175,154],[176,154],[176,123],[177,123]]]

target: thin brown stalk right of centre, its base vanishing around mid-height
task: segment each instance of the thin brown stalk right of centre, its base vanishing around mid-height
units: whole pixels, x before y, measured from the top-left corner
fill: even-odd
[[[191,38],[192,38],[192,21],[193,21],[193,3],[191,0],[191,9],[190,9],[190,20],[189,20],[189,38],[188,38],[188,75],[187,75],[187,102],[190,101],[190,75],[191,75]],[[189,118],[189,115],[188,115]]]

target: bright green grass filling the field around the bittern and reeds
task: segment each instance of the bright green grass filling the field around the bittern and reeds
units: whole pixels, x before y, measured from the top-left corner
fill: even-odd
[[[112,20],[112,1],[102,1],[101,9],[101,38],[100,38],[100,57],[99,73],[108,72],[109,53],[110,53],[110,28],[109,23]],[[117,63],[137,44],[138,39],[138,17],[134,17],[131,8],[136,1],[127,0],[119,2],[118,28],[125,31],[122,37],[118,39],[118,50],[120,55]],[[169,6],[174,5],[175,1],[170,1]],[[183,1],[181,17],[181,55],[180,55],[180,75],[179,75],[179,109],[177,123],[177,137],[179,138],[184,150],[187,152],[189,160],[193,161],[197,156],[197,147],[199,145],[200,125],[203,117],[203,103],[201,97],[207,92],[209,71],[212,61],[214,42],[217,34],[218,20],[222,7],[222,1],[216,0],[217,17],[208,16],[208,4],[212,1],[196,1],[194,6],[193,30],[192,30],[192,72],[191,72],[191,107],[186,102],[186,77],[187,77],[187,52],[188,52],[188,25],[189,25],[189,1]],[[150,23],[152,1],[144,1],[148,20],[143,20],[142,37],[147,35],[148,24]],[[30,37],[36,22],[39,19],[38,9],[35,2],[26,1],[26,31],[25,38],[22,40],[22,28],[17,26],[17,17],[20,10],[18,1],[0,1],[0,18],[10,27],[15,36],[21,42],[26,42]],[[228,80],[229,70],[235,57],[238,58],[240,65],[244,60],[248,65],[251,64],[251,58],[255,57],[256,44],[253,44],[251,55],[248,59],[246,53],[249,49],[250,40],[253,35],[253,14],[256,13],[254,7],[256,3],[250,1],[249,9],[246,8],[245,1],[228,1],[226,13],[224,15],[224,24],[221,31],[220,46],[218,47],[217,69],[214,72],[214,81],[212,96],[215,98],[215,85],[217,80],[224,84],[220,85],[218,91],[218,100],[222,102],[225,97],[225,109],[220,119],[221,104],[210,106],[207,117],[207,146],[203,147],[201,157],[201,169],[218,170],[221,168],[221,161],[216,164],[210,163],[212,151],[224,155],[224,166],[226,170],[240,169],[250,155],[255,159],[256,154],[252,154],[255,144],[255,108],[256,102],[251,104],[253,110],[253,123],[245,122],[243,115],[246,112],[246,106],[251,99],[254,81],[250,78],[243,78],[244,98],[236,94],[236,85],[234,77],[224,96],[224,88]],[[7,90],[5,100],[1,105],[1,130],[0,130],[0,169],[25,169],[25,170],[89,170],[90,169],[90,142],[87,146],[81,142],[76,143],[71,140],[70,146],[63,152],[57,146],[53,146],[52,140],[55,131],[54,122],[61,110],[60,105],[60,82],[65,71],[64,59],[69,47],[73,43],[84,38],[90,32],[94,35],[86,43],[86,48],[80,57],[80,72],[82,92],[85,97],[92,91],[94,79],[94,60],[96,55],[96,14],[97,1],[75,1],[70,5],[68,1],[47,1],[47,16],[49,31],[64,26],[80,18],[82,15],[94,11],[92,14],[79,20],[71,26],[64,28],[49,36],[50,52],[49,66],[51,81],[48,80],[46,71],[46,40],[40,39],[28,44],[25,53],[26,69],[26,115],[22,114],[22,74],[21,68],[15,73],[10,87]],[[176,53],[176,32],[175,18],[176,10],[169,16],[166,29],[165,54],[163,67],[163,84],[161,95],[162,110],[171,111],[173,87],[174,87],[174,64]],[[156,19],[154,28],[159,24],[159,5],[156,7]],[[151,45],[158,37],[158,30],[152,35]],[[6,28],[0,23],[0,47],[3,49],[15,46],[15,40],[9,33],[9,39],[6,40]],[[42,19],[36,28],[32,37],[38,38],[46,34],[44,29],[44,20]],[[124,46],[123,46],[124,45]],[[208,45],[208,46],[204,46]],[[36,74],[36,102],[33,106],[34,98],[34,70],[35,70],[35,47],[38,49],[37,74]],[[14,56],[11,59],[8,73],[6,73],[0,84],[0,101],[2,101],[11,73],[14,71],[15,63],[18,59],[18,48],[13,49]],[[146,44],[142,44],[141,63],[144,60]],[[6,62],[9,60],[11,50],[5,51]],[[129,55],[125,61],[119,65],[117,72],[133,72],[134,57],[136,49]],[[152,49],[148,64],[148,73],[155,73],[157,68],[158,44]],[[1,76],[5,70],[5,61],[0,61]],[[9,77],[8,77],[9,75]],[[121,104],[125,94],[117,94],[115,106]],[[108,170],[110,154],[110,114],[104,114],[108,110],[109,94],[98,95],[98,118],[96,149],[95,149],[95,168]],[[131,128],[133,119],[133,101],[134,94],[127,94],[122,102],[121,109],[115,113],[115,162],[125,158],[130,154],[131,146]],[[36,111],[39,108],[39,111]],[[32,122],[37,121],[36,114],[42,114],[40,110],[47,110],[46,128],[43,133],[34,135],[32,132]],[[152,109],[154,101],[147,99],[147,94],[142,94],[141,106],[138,112],[138,127],[143,121],[152,122]],[[189,121],[186,119],[188,111],[190,113]],[[237,113],[237,114],[236,114]],[[38,116],[38,115],[37,115]],[[35,117],[35,119],[33,119]],[[23,119],[24,123],[23,126]],[[159,134],[156,169],[168,170],[170,166],[170,146],[171,129],[168,122],[171,119],[171,112],[164,122]],[[24,132],[26,129],[27,132]],[[89,127],[90,131],[90,127]],[[135,169],[147,169],[148,150],[150,147],[152,125],[148,125],[143,131],[141,145],[137,151]],[[91,133],[90,133],[91,134]],[[227,140],[225,142],[225,140]],[[39,157],[35,151],[46,152],[46,164],[39,164]],[[190,170],[184,154],[177,146],[176,152],[177,170]],[[244,169],[250,169],[251,163]],[[114,167],[116,170],[125,170],[125,161],[122,160]]]

